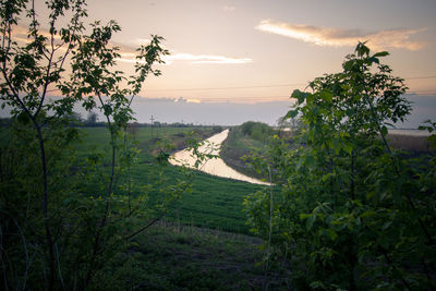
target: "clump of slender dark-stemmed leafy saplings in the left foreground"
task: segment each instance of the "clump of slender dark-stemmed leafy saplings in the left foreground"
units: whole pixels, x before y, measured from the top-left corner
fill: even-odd
[[[85,289],[106,259],[156,220],[132,222],[133,217],[150,217],[146,193],[132,195],[129,172],[137,150],[126,129],[134,96],[148,75],[160,74],[153,65],[162,63],[168,51],[161,37],[152,36],[136,51],[135,75],[125,77],[117,70],[119,48],[110,41],[120,31],[114,21],[86,29],[84,0],[48,0],[45,5],[49,16],[38,20],[34,0],[0,3],[0,100],[12,108],[13,120],[0,150],[2,287]],[[25,23],[23,40],[19,32]],[[53,89],[62,97],[50,100]],[[68,126],[66,118],[75,105],[105,116],[108,157],[95,151],[78,160],[74,145],[80,131]],[[164,171],[166,163],[159,165]],[[189,180],[171,187],[158,184],[166,192],[161,213],[190,187]]]

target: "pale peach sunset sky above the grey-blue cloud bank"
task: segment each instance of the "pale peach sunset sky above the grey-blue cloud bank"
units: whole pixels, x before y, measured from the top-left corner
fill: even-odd
[[[339,72],[359,40],[390,52],[385,62],[410,93],[436,95],[435,0],[88,0],[88,14],[121,25],[113,45],[129,74],[137,46],[152,34],[166,38],[171,56],[142,97],[288,100]]]

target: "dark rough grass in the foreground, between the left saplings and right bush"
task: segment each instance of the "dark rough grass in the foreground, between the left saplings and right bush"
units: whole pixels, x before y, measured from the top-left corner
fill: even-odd
[[[257,264],[261,244],[252,237],[162,221],[109,262],[95,278],[95,289],[287,289],[284,274],[266,274]]]

